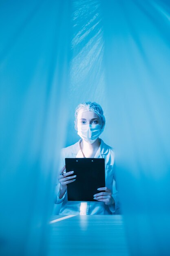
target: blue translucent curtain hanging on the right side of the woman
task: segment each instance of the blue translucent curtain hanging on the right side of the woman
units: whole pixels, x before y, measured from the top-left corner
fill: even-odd
[[[105,78],[130,255],[170,245],[170,8],[102,2]]]

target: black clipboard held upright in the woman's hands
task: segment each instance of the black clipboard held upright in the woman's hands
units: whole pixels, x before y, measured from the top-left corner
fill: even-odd
[[[76,180],[67,184],[68,201],[95,201],[98,188],[105,187],[104,158],[65,158],[66,172],[74,171]]]

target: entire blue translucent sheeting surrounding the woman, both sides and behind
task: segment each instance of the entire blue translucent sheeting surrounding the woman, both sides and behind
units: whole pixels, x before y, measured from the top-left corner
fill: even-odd
[[[60,148],[79,139],[74,110],[88,100],[102,105],[102,139],[115,148],[130,254],[167,255],[169,2],[5,1],[0,10],[4,255],[45,254]]]

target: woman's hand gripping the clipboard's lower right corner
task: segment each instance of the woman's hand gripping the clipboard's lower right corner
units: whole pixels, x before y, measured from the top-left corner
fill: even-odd
[[[105,204],[115,204],[115,200],[112,197],[112,192],[110,189],[108,189],[106,186],[104,188],[99,188],[97,190],[102,190],[105,192],[97,193],[94,196],[94,199],[100,202],[104,202]]]

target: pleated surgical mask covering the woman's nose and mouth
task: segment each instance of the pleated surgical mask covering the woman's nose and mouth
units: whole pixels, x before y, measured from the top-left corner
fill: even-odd
[[[100,124],[77,125],[77,129],[77,134],[90,144],[95,142],[95,140],[102,133]]]

